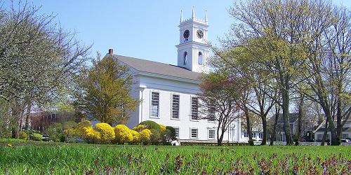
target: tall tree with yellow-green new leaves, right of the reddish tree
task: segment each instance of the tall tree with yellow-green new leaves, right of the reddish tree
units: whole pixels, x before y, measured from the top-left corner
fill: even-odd
[[[275,83],[279,95],[272,99],[282,107],[288,145],[293,144],[289,127],[292,94],[303,81],[300,80],[301,75],[309,73],[313,66],[310,59],[320,53],[310,50],[318,50],[322,46],[319,39],[331,27],[334,18],[331,6],[329,1],[323,0],[252,0],[239,1],[230,8],[230,14],[237,23],[232,27],[232,35],[223,43],[227,47],[244,48],[245,53],[255,55],[256,64],[253,66],[265,72],[265,76],[260,77],[262,82],[267,80],[269,83],[265,85],[268,86]],[[310,78],[307,76],[307,79]],[[313,75],[312,78],[319,76]],[[312,85],[318,85],[318,82]],[[266,90],[263,92],[268,95]],[[321,92],[324,90],[314,91],[314,95],[318,96]],[[281,103],[278,98],[282,98]],[[329,116],[326,113],[328,119]],[[333,121],[329,120],[329,123],[333,130]],[[331,136],[335,144],[336,135],[332,132]]]

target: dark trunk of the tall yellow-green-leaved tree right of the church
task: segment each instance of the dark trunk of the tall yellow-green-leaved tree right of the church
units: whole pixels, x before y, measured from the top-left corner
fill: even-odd
[[[289,82],[287,86],[289,87]],[[290,123],[289,123],[289,89],[282,88],[282,99],[283,99],[283,130],[286,138],[286,145],[293,145],[293,139],[290,132]]]

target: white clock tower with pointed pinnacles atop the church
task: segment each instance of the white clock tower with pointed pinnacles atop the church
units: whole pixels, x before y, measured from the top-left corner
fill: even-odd
[[[195,18],[192,7],[192,18],[183,20],[180,12],[178,66],[196,72],[208,71],[209,45],[207,44],[207,12],[205,20]]]

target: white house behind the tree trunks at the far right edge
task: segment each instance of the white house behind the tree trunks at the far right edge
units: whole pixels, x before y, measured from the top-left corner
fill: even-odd
[[[335,122],[336,124],[336,122]],[[321,125],[317,127],[314,131],[314,141],[322,141],[324,131],[326,130],[326,121],[324,120]],[[343,126],[342,138],[341,139],[350,139],[351,138],[351,120],[347,120]],[[331,133],[326,133],[326,139],[331,140]]]

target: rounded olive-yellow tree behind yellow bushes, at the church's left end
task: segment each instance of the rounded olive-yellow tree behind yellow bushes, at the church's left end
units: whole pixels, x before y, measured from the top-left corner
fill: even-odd
[[[129,114],[138,106],[131,97],[133,76],[128,66],[119,64],[112,56],[93,60],[86,76],[79,80],[77,106],[102,123],[125,124]]]

